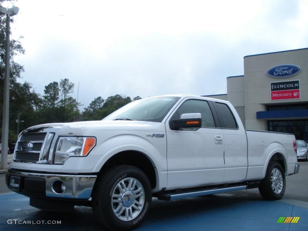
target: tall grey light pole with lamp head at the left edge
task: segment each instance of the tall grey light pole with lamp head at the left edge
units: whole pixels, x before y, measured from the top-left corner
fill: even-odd
[[[0,7],[0,14],[6,14],[6,50],[5,75],[3,87],[3,115],[2,115],[2,151],[0,169],[7,168],[7,146],[9,142],[9,103],[10,103],[10,16],[18,14],[19,8],[6,9]]]

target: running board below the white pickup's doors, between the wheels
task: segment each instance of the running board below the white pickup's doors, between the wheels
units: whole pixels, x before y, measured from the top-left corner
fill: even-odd
[[[237,190],[247,189],[247,185],[241,186],[233,186],[233,187],[226,187],[226,188],[208,188],[208,189],[199,189],[195,191],[186,191],[186,192],[175,192],[175,193],[162,193],[157,196],[159,200],[170,201],[176,199],[182,199],[186,197],[198,197],[203,195],[210,195],[210,194],[217,194],[217,193],[227,193]]]

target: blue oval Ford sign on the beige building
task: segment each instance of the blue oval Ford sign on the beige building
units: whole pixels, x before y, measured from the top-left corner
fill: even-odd
[[[266,72],[267,75],[274,78],[286,78],[298,74],[301,68],[293,64],[283,64],[272,67]]]

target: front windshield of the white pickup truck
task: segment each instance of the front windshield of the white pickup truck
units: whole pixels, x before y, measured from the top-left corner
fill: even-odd
[[[180,97],[138,99],[111,113],[103,120],[143,120],[161,122]]]

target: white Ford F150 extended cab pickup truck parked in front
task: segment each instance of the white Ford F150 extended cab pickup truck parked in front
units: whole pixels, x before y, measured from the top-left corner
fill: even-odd
[[[18,136],[6,184],[43,210],[92,206],[108,229],[134,229],[152,197],[259,188],[282,198],[298,173],[292,134],[245,130],[231,103],[195,95],[136,100],[101,121],[42,124]]]

